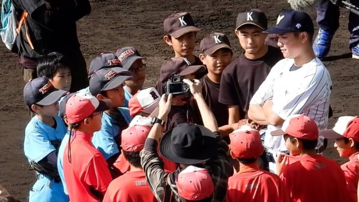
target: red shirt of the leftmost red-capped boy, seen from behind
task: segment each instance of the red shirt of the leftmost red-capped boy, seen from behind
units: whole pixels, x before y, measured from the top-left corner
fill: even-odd
[[[104,194],[112,180],[106,160],[93,147],[91,137],[78,131],[71,136],[71,163],[68,143],[63,152],[63,172],[71,202],[98,202],[96,192]]]

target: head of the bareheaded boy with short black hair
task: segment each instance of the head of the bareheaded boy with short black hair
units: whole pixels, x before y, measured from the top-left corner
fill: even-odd
[[[52,52],[38,59],[37,76],[45,76],[57,89],[70,91],[72,78],[70,65],[66,56]]]

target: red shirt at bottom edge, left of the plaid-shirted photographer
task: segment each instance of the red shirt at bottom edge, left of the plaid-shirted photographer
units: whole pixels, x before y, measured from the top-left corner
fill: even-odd
[[[157,202],[147,184],[145,172],[127,171],[114,179],[105,194],[103,202]]]

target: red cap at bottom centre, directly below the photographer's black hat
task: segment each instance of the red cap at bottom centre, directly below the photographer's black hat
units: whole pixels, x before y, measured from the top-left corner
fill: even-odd
[[[212,178],[204,168],[189,166],[177,178],[179,196],[190,201],[200,201],[213,195]]]

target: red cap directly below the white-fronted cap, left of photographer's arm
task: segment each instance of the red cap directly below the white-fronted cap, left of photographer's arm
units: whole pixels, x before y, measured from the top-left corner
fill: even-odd
[[[132,126],[124,130],[121,134],[121,147],[124,151],[139,152],[146,142],[146,138],[151,130],[150,126]]]

